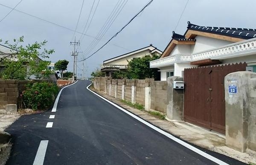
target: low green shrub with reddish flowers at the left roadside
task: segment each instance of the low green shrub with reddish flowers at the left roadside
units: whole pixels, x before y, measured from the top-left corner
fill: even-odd
[[[30,83],[20,94],[25,108],[33,110],[47,110],[55,101],[59,88],[53,83]]]

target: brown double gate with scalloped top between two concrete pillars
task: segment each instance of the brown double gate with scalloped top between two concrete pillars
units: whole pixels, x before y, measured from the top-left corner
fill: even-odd
[[[184,70],[184,121],[225,133],[224,77],[245,71],[246,63]]]

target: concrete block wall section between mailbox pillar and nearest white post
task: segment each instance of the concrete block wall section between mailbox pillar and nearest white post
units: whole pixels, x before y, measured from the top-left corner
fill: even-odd
[[[151,109],[166,113],[167,106],[167,82],[154,81],[151,87]]]

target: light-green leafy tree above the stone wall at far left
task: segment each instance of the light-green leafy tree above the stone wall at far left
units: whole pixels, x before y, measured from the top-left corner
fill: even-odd
[[[41,60],[41,58],[49,58],[49,55],[54,50],[44,48],[42,52],[39,52],[46,45],[47,41],[44,40],[41,43],[35,42],[32,45],[23,46],[23,39],[24,37],[22,36],[17,40],[14,39],[14,44],[11,44],[9,41],[4,43],[11,48],[11,53],[0,56],[0,63],[4,66],[1,73],[3,79],[28,80],[31,75],[41,78],[42,71],[49,65],[49,61]]]

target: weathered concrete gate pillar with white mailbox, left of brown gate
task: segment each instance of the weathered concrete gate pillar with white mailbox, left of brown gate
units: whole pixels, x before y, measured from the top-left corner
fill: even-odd
[[[166,116],[169,119],[183,120],[184,89],[174,89],[173,81],[183,81],[183,77],[172,76],[167,78],[168,105],[166,107]]]

